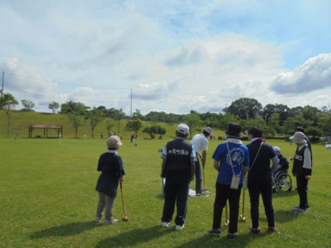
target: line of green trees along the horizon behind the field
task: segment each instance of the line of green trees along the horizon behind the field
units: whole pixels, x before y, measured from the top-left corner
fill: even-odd
[[[22,104],[26,110],[31,110],[34,103],[30,100],[23,99]],[[6,111],[8,119],[8,136],[10,130],[10,110],[18,104],[18,101],[9,93],[3,94],[0,99],[1,109]],[[51,102],[49,109],[55,114],[60,104]],[[80,102],[67,101],[61,104],[60,114],[66,114],[72,123],[77,137],[78,129],[84,122],[89,121],[92,137],[94,137],[94,128],[97,124],[106,119],[106,128],[108,134],[114,128],[114,123],[110,118],[118,122],[117,132],[121,134],[121,120],[128,119],[126,130],[134,132],[137,137],[142,127],[141,121],[152,123],[187,123],[190,126],[190,136],[196,131],[200,131],[203,126],[210,126],[219,130],[225,130],[228,123],[235,121],[241,124],[243,130],[259,125],[263,128],[267,136],[290,135],[295,127],[302,126],[306,134],[312,136],[312,140],[319,136],[331,136],[331,110],[328,107],[317,107],[310,105],[304,107],[288,107],[284,104],[267,104],[263,107],[259,101],[250,98],[240,98],[233,101],[228,107],[225,107],[221,113],[205,112],[199,113],[191,110],[189,114],[167,114],[165,112],[149,112],[146,115],[136,110],[132,116],[127,116],[122,109],[107,109],[105,106],[88,107]],[[145,127],[143,132],[150,135],[159,134],[161,138],[166,130],[160,125],[152,124]]]

